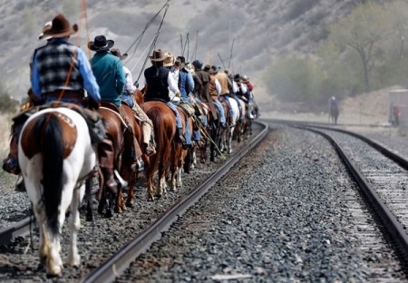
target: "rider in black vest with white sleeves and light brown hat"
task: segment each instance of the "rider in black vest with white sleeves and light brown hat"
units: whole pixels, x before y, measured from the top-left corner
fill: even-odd
[[[180,100],[180,91],[177,82],[174,81],[170,70],[163,66],[163,61],[166,59],[166,56],[160,49],[155,50],[149,57],[151,58],[152,65],[144,70],[147,85],[144,101],[160,100],[167,103],[176,115],[176,139],[185,145],[186,140],[182,134],[180,114],[176,106],[171,102],[173,99]],[[169,89],[174,93],[174,96],[170,97]]]

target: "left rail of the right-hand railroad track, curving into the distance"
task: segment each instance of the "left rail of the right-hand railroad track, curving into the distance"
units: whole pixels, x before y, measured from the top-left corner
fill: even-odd
[[[366,200],[369,207],[373,209],[375,216],[383,224],[385,234],[390,236],[389,239],[392,241],[399,259],[403,262],[403,266],[406,267],[408,263],[408,235],[403,229],[401,223],[395,218],[393,213],[384,204],[383,200],[378,197],[378,195],[374,191],[374,188],[368,183],[368,181],[365,180],[363,174],[357,169],[353,161],[348,158],[341,146],[325,132],[318,131],[316,129],[313,129],[311,126],[306,125],[297,125],[295,127],[310,132],[315,132],[325,137],[325,139],[332,144],[341,160],[345,163],[345,167],[353,176],[360,189],[361,194],[364,196],[364,200]]]

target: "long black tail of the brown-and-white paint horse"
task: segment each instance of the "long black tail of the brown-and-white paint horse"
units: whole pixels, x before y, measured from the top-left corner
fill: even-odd
[[[55,235],[59,232],[58,207],[63,194],[63,131],[53,114],[42,115],[35,124],[37,141],[43,152],[43,200],[45,219]]]

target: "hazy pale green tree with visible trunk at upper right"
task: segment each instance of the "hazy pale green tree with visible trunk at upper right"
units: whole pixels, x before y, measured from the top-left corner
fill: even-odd
[[[349,15],[329,26],[328,41],[341,52],[352,48],[359,55],[364,76],[364,90],[372,89],[371,75],[375,63],[375,48],[388,36],[391,22],[386,19],[383,5],[367,2],[357,5]]]

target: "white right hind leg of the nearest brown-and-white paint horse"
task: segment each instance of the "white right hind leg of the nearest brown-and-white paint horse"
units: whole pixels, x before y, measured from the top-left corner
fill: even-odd
[[[73,267],[79,267],[81,260],[78,254],[77,235],[81,227],[81,220],[79,216],[79,204],[83,199],[85,185],[83,184],[78,190],[73,190],[73,201],[71,203],[71,216],[69,226],[71,229],[70,249],[68,252],[68,262]]]

